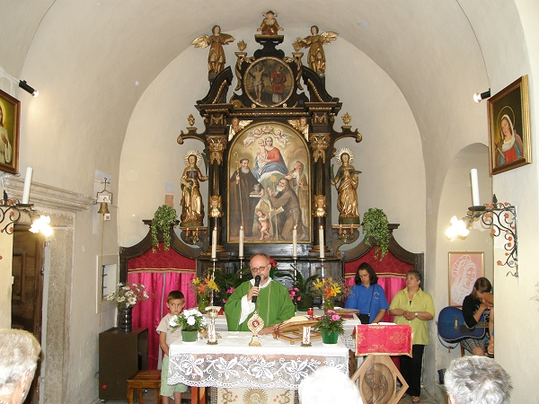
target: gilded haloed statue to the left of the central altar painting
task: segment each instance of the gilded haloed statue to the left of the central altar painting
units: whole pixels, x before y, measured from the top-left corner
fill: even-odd
[[[199,181],[208,177],[202,175],[198,165],[202,160],[200,152],[190,150],[183,158],[187,167],[181,175],[181,227],[201,227],[204,224],[204,204],[200,195]]]

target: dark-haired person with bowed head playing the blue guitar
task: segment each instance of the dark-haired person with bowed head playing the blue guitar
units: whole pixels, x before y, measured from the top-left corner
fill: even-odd
[[[466,326],[473,329],[481,321],[482,316],[483,321],[489,323],[489,330],[485,332],[482,338],[464,338],[461,341],[461,346],[476,356],[484,356],[490,343],[490,332],[492,331],[492,323],[490,322],[491,303],[494,302],[493,295],[490,294],[491,290],[492,285],[489,279],[480,277],[473,284],[472,293],[464,297],[463,316]]]

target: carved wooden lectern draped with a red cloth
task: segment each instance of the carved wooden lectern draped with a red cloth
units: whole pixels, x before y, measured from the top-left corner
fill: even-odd
[[[356,356],[367,356],[352,376],[359,380],[364,402],[396,403],[401,400],[408,383],[393,364],[390,356],[411,356],[413,332],[409,325],[364,324],[356,326]],[[397,391],[397,381],[402,388]]]

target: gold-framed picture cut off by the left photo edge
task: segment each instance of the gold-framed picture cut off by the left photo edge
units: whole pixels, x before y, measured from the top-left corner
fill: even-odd
[[[0,171],[19,172],[21,101],[0,90]]]

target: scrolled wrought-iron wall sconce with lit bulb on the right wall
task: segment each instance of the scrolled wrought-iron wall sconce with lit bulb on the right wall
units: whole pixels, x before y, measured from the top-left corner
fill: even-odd
[[[447,238],[453,241],[457,236],[466,237],[470,233],[468,227],[475,219],[481,219],[482,224],[491,227],[494,237],[503,237],[505,259],[499,259],[496,265],[515,268],[514,272],[508,271],[506,277],[509,274],[518,277],[517,208],[507,202],[498,203],[494,195],[490,205],[468,207],[468,214],[462,220],[457,220],[456,216],[453,216],[451,227],[446,231]]]

